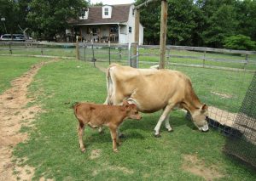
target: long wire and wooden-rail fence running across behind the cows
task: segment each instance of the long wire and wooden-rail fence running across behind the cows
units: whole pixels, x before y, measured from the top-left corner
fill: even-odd
[[[77,56],[81,61],[92,62],[102,68],[107,68],[111,63],[150,68],[159,65],[160,61],[159,46],[137,46],[136,43],[130,46],[129,44],[79,43],[77,50],[75,43],[0,42],[0,54],[52,56],[68,59],[75,59]],[[255,126],[252,126],[255,122],[246,122],[243,127],[237,127],[237,124],[241,125],[241,123],[236,122],[242,120],[241,112],[255,120],[255,115],[241,111],[241,105],[245,110],[251,109],[251,106],[243,105],[243,99],[250,83],[255,79],[253,76],[256,71],[256,52],[166,46],[166,69],[182,71],[191,78],[201,102],[209,106],[209,124],[213,129],[226,135],[234,137],[243,135],[243,138],[255,140]],[[255,83],[253,86],[255,88]],[[253,100],[255,89],[251,95],[254,96],[250,97]],[[249,142],[251,146],[248,149],[255,149],[256,142]],[[237,151],[234,155],[239,156],[239,154]],[[244,157],[243,160],[246,161],[253,160],[246,159],[245,155],[240,157]]]

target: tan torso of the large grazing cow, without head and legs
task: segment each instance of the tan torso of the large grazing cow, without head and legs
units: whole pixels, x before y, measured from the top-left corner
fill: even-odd
[[[154,112],[169,104],[181,102],[186,89],[191,85],[188,76],[179,71],[134,69],[113,65],[108,70],[112,88],[108,88],[108,99],[133,101],[142,112]],[[173,100],[174,99],[174,100]],[[108,101],[112,103],[112,101]]]

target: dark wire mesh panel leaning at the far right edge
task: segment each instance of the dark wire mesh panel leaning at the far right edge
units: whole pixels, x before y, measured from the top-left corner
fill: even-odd
[[[256,167],[256,74],[231,129],[225,150]]]

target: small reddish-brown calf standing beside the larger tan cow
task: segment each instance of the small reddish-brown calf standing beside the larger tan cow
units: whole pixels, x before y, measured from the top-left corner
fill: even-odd
[[[85,151],[83,134],[85,125],[90,127],[108,126],[113,140],[113,151],[117,152],[117,128],[125,118],[141,119],[137,106],[129,105],[127,101],[123,105],[96,105],[90,103],[78,103],[73,107],[74,114],[79,120],[78,134],[80,150]]]

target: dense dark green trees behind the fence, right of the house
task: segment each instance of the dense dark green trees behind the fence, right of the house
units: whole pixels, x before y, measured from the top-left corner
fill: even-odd
[[[145,0],[137,0],[137,4]],[[168,0],[167,43],[223,48],[225,37],[256,41],[256,0]],[[160,2],[141,10],[145,43],[160,40]]]

